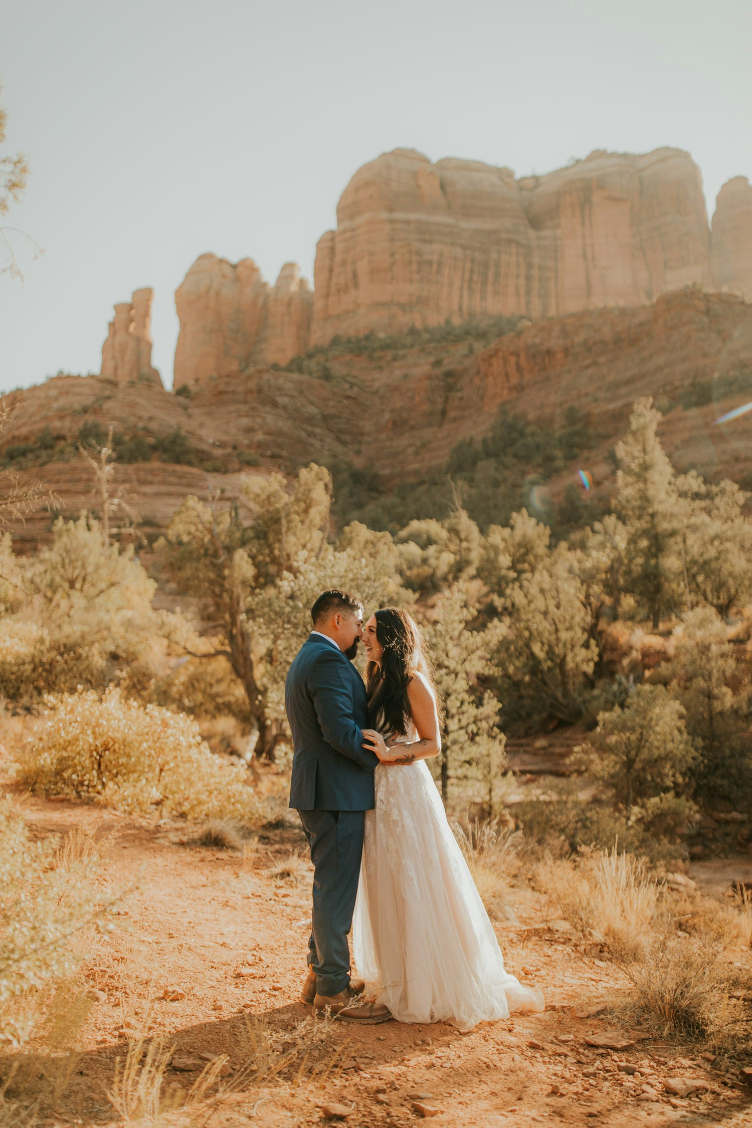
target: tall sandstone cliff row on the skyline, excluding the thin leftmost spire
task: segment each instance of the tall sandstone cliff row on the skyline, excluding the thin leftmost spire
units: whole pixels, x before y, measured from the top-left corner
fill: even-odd
[[[634,307],[696,284],[752,294],[752,188],[718,195],[713,245],[698,167],[679,149],[598,150],[545,176],[395,149],[360,168],[319,239],[311,292],[294,263],[202,255],[176,294],[175,387],[284,365],[333,336]]]

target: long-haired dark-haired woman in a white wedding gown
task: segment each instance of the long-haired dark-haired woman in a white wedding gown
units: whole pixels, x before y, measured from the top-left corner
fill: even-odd
[[[363,735],[380,764],[353,918],[360,975],[378,986],[378,1002],[400,1022],[470,1030],[510,1011],[542,1011],[540,992],[504,970],[425,764],[441,751],[441,735],[417,624],[399,608],[384,608],[366,623],[363,643],[371,723],[380,730]]]

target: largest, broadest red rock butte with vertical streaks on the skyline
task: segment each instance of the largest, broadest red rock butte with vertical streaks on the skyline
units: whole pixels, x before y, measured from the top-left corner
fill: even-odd
[[[547,176],[396,149],[345,188],[316,256],[313,343],[498,314],[634,306],[709,283],[688,153],[593,152]]]

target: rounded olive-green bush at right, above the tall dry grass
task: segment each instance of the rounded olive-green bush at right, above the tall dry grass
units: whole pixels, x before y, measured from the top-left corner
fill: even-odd
[[[589,775],[608,784],[629,819],[632,808],[685,784],[696,751],[684,710],[663,686],[637,686],[623,706],[600,713],[576,749]]]

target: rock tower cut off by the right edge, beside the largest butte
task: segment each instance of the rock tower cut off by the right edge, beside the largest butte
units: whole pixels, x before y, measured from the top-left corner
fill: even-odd
[[[727,180],[713,217],[713,280],[752,301],[752,185],[745,176]]]

